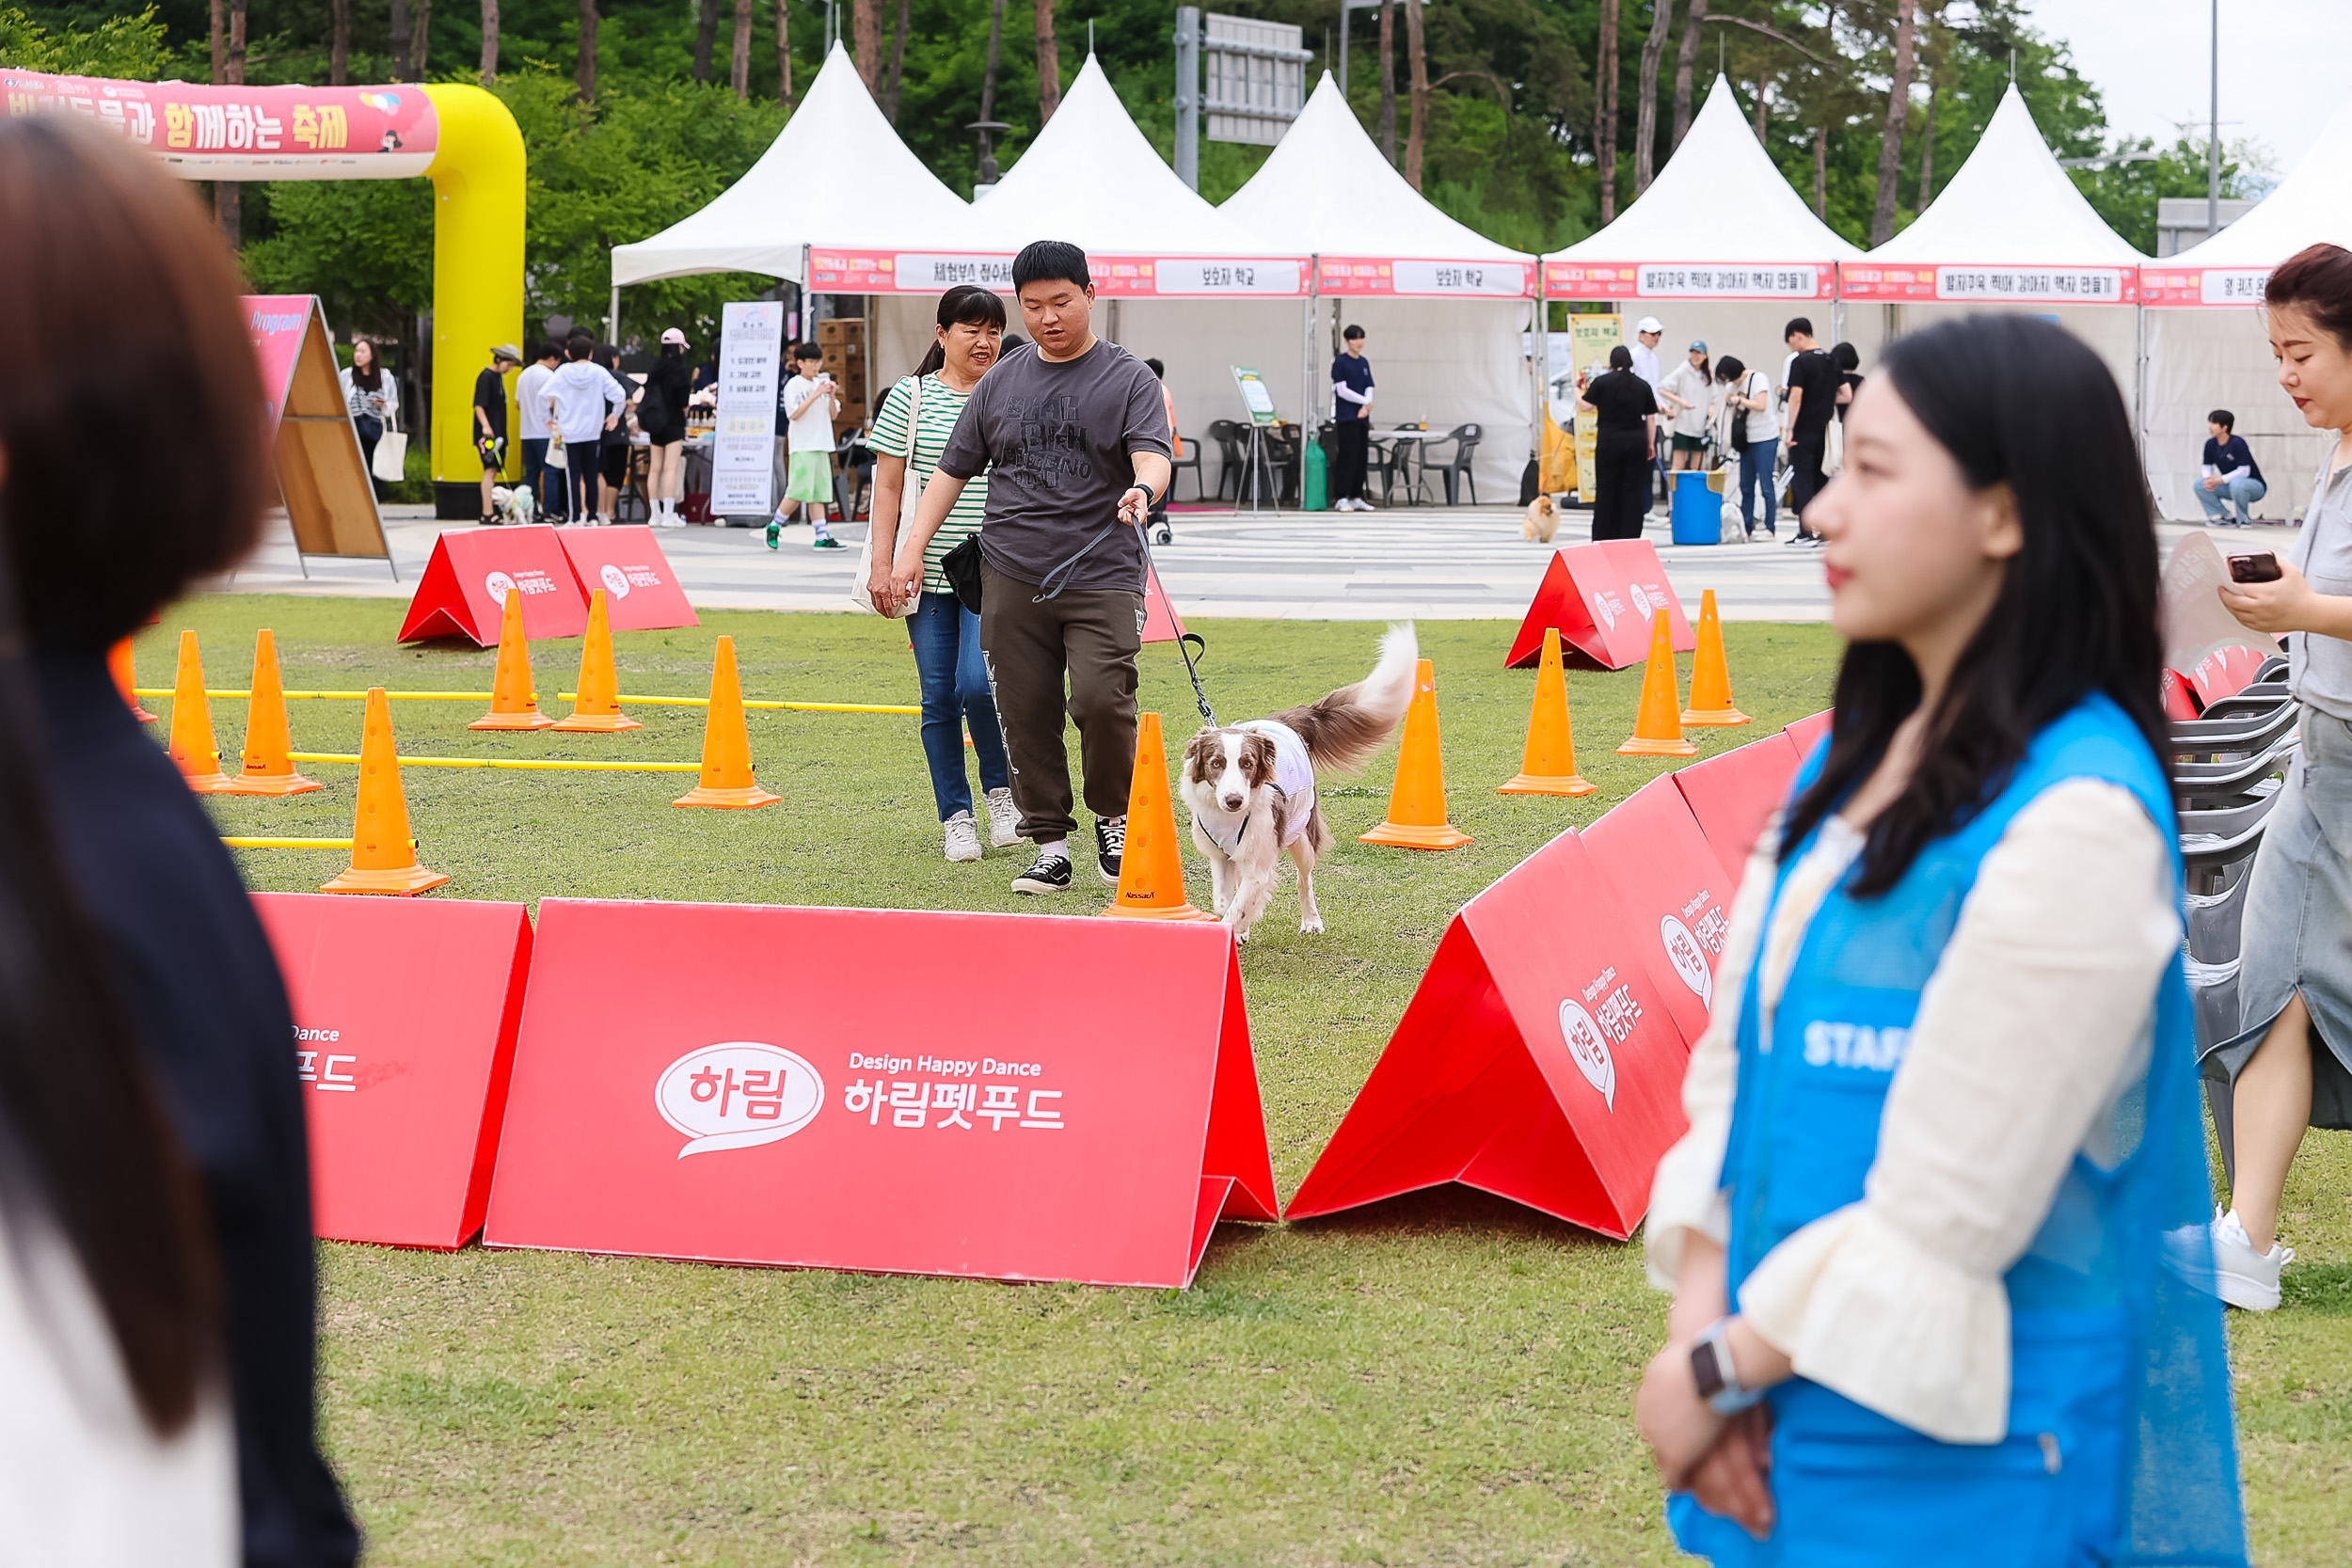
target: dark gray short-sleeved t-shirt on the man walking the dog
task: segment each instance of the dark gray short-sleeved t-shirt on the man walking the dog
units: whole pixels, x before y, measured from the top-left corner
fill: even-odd
[[[938,473],[988,473],[981,555],[1009,578],[1044,583],[1136,482],[1134,451],[1174,456],[1160,376],[1117,343],[1051,362],[1035,343],[1004,355],[971,390]],[[1070,571],[1070,590],[1143,592],[1143,541],[1117,527]]]

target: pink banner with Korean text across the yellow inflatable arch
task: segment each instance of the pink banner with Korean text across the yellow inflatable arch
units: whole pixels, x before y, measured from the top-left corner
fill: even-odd
[[[68,113],[122,132],[181,179],[405,179],[433,167],[421,87],[202,87],[0,71],[0,120]]]

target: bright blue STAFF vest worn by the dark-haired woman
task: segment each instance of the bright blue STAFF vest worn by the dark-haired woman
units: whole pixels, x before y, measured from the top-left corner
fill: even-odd
[[[1828,741],[1799,769],[1804,792]],[[1738,1093],[1722,1187],[1733,1300],[1790,1232],[1863,1197],[1879,1114],[1985,853],[2011,818],[2067,778],[2131,790],[2173,835],[2173,799],[2147,741],[2105,696],[2032,738],[2006,785],[1875,898],[1823,898],[1762,1018],[1762,959],[1738,1023]],[[1780,860],[1780,884],[1811,849]],[[2178,858],[2173,877],[2178,879]],[[2220,1302],[2166,1269],[2164,1237],[2201,1241],[2209,1204],[2190,992],[2178,959],[2152,997],[2154,1051],[2138,1143],[2114,1166],[2077,1154],[2049,1220],[2004,1276],[2009,1432],[1943,1443],[1804,1378],[1771,1389],[1778,1505],[1752,1540],[1686,1493],[1668,1505],[1684,1552],[1717,1566],[1813,1563],[2244,1563]],[[1837,1037],[1867,1051],[1816,1051]],[[2194,1269],[2185,1269],[2194,1272]]]

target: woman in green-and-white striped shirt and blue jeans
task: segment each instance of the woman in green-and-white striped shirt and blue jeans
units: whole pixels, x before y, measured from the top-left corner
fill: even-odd
[[[873,498],[873,578],[868,592],[875,609],[891,614],[891,562],[898,529],[913,508],[901,508],[931,482],[964,400],[997,362],[1004,339],[1004,301],[971,284],[948,289],[938,299],[938,336],[915,374],[894,386],[875,411],[870,449],[875,454]],[[997,703],[988,691],[988,665],[981,663],[981,616],[964,609],[948,583],[943,562],[955,545],[981,531],[988,508],[988,475],[976,477],[957,496],[948,522],[922,552],[922,592],[906,618],[915,644],[915,672],[922,677],[922,755],[931,766],[931,797],[946,825],[948,858],[978,860],[981,827],[971,816],[971,780],[964,776],[964,731],[981,764],[981,790],[988,802],[988,842],[997,849],[1021,842],[1021,813],[1014,809],[1011,766],[1004,759],[1004,731],[997,729]]]

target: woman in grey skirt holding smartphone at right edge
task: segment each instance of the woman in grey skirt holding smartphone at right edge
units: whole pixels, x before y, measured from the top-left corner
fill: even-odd
[[[2232,562],[2220,602],[2258,632],[2291,632],[2303,748],[2263,825],[2239,931],[2241,1030],[2211,1051],[2234,1084],[2237,1180],[2213,1220],[2220,1295],[2279,1305],[2286,1173],[2307,1126],[2352,1126],[2352,252],[2314,244],[2270,275],[2279,386],[2336,430],[2286,559]]]

